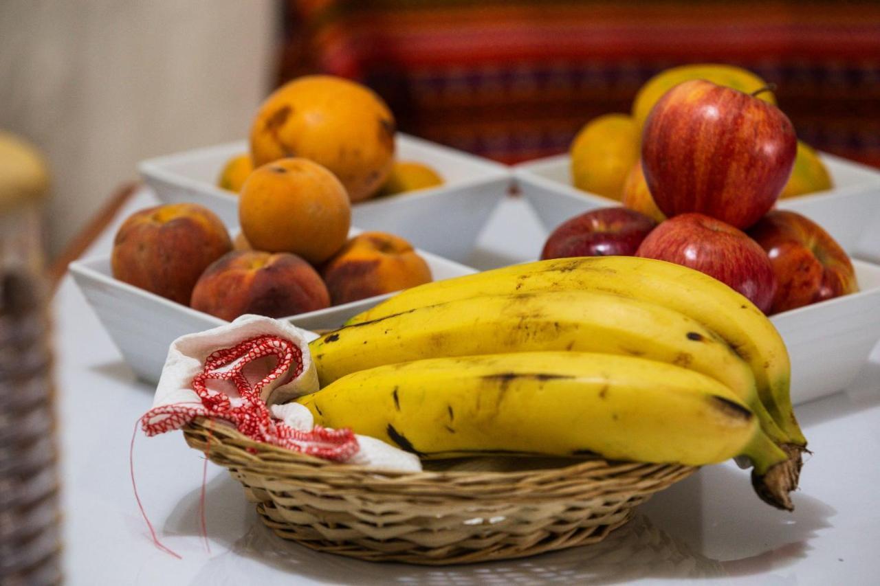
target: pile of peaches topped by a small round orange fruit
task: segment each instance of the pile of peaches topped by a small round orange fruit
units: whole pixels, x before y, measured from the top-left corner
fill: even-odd
[[[317,178],[317,179],[316,179]],[[424,259],[406,240],[387,232],[343,236],[325,262],[315,251],[328,250],[324,233],[304,218],[343,214],[348,231],[348,200],[339,181],[319,165],[304,159],[283,159],[252,173],[242,192],[271,193],[274,217],[265,202],[250,209],[256,232],[238,233],[234,242],[213,212],[196,204],[166,204],[136,212],[116,234],[112,274],[122,282],[231,321],[246,313],[283,318],[326,309],[366,297],[407,289],[431,281]],[[326,207],[322,208],[321,198]],[[283,205],[287,202],[287,206]],[[340,212],[341,210],[341,212]],[[267,250],[254,245],[272,237],[260,217],[299,222],[289,242],[301,243],[301,254]],[[338,220],[338,217],[335,218]],[[319,221],[319,220],[315,220]],[[337,222],[335,225],[339,225]],[[304,236],[305,234],[305,236]],[[317,234],[312,240],[311,237]],[[281,235],[290,237],[289,233]],[[323,237],[323,239],[322,239]],[[283,238],[270,242],[282,241]],[[297,244],[298,245],[298,244]],[[308,254],[308,255],[307,255]]]

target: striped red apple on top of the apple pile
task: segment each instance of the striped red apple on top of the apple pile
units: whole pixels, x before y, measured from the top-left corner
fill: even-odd
[[[642,167],[666,216],[699,212],[746,229],[771,209],[797,139],[776,106],[694,79],[664,94],[642,131]]]

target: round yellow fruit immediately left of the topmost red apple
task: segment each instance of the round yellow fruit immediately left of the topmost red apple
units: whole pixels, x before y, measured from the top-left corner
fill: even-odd
[[[575,187],[620,200],[627,172],[639,160],[639,134],[640,128],[626,114],[590,121],[571,143]]]

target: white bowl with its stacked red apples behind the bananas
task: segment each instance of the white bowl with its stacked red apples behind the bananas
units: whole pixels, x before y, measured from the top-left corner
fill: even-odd
[[[625,254],[700,270],[771,316],[796,402],[850,385],[880,339],[880,267],[778,204],[798,156],[785,114],[755,92],[685,81],[649,111],[639,152],[652,208],[592,205],[554,227],[542,257]]]

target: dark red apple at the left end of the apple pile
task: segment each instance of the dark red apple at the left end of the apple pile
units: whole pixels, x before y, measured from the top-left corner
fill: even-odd
[[[632,256],[656,225],[634,209],[593,209],[561,223],[547,238],[541,259]]]

